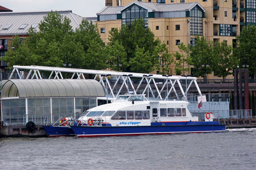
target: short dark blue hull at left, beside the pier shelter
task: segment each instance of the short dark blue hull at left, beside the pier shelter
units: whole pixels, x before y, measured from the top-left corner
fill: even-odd
[[[49,137],[70,137],[75,133],[69,126],[44,126],[44,130]]]

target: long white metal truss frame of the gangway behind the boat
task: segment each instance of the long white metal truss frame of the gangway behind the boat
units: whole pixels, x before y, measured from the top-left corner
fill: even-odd
[[[177,90],[175,88],[176,84],[179,87],[179,91],[183,95],[182,100],[187,100],[186,94],[189,91],[189,88],[191,87],[192,83],[195,84],[198,94],[202,95],[201,91],[200,91],[200,88],[199,88],[199,86],[196,82],[196,78],[191,77],[191,76],[187,76],[187,77],[184,77],[184,76],[162,76],[162,75],[158,75],[158,74],[126,73],[126,72],[118,72],[118,71],[86,70],[86,69],[72,69],[72,68],[46,67],[46,66],[13,66],[13,71],[12,71],[9,79],[13,78],[13,75],[14,75],[15,72],[18,73],[19,79],[22,79],[22,76],[20,76],[19,70],[30,70],[28,72],[28,75],[26,76],[26,79],[42,79],[40,71],[51,71],[51,74],[49,75],[48,79],[64,79],[63,78],[63,73],[73,73],[72,76],[71,76],[71,79],[85,79],[84,74],[92,74],[92,75],[95,75],[94,79],[97,79],[97,78],[100,79],[100,83],[102,84],[105,91],[106,91],[106,88],[108,88],[108,90],[110,90],[110,93],[108,94],[108,96],[110,95],[111,97],[109,97],[109,100],[117,99],[117,97],[119,96],[119,94],[122,91],[122,89],[124,88],[124,86],[127,89],[127,92],[129,92],[129,87],[131,86],[132,91],[134,92],[134,94],[137,94],[137,92],[138,92],[139,88],[141,87],[141,84],[142,84],[144,79],[146,79],[147,85],[144,88],[142,94],[144,95],[144,94],[146,94],[146,92],[148,92],[150,90],[152,98],[155,98],[155,99],[167,100],[168,96],[170,96],[172,91],[175,93],[177,99],[179,99],[179,96],[177,94]],[[106,75],[118,76],[118,79],[115,82],[114,86],[110,86],[109,78]],[[105,77],[105,80],[106,80],[107,87],[104,83],[104,77]],[[134,88],[134,83],[133,83],[133,81],[131,80],[130,77],[141,78],[137,88]],[[122,82],[121,87],[119,88],[117,94],[114,94],[113,91],[116,88],[120,79],[122,79],[123,82]],[[158,86],[155,82],[155,79],[165,80],[165,82],[163,84],[163,87],[161,88],[160,91],[159,91],[159,88],[158,88]],[[186,81],[191,80],[189,86],[185,87],[186,88],[185,91],[183,90],[183,87],[181,86],[180,80],[186,80]],[[151,82],[153,82],[154,85],[150,84]],[[164,88],[166,87],[167,83],[171,84],[171,88],[170,88],[170,90],[168,90],[167,96],[163,99],[161,94],[162,94]],[[128,87],[128,84],[129,84],[129,87]],[[151,85],[155,87],[156,92],[158,94],[157,97],[155,97],[155,95],[152,91]],[[149,92],[148,92],[147,97],[148,96],[150,96]],[[106,100],[106,97],[101,97],[101,99]]]

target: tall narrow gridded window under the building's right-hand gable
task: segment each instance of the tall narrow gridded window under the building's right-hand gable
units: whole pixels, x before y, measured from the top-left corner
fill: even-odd
[[[203,10],[195,6],[190,11],[190,35],[203,35]]]

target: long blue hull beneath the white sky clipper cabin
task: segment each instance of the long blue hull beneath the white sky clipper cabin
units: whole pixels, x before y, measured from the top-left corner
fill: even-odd
[[[225,131],[225,125],[213,122],[189,122],[181,125],[151,126],[71,126],[77,137],[102,137],[143,134],[203,133]]]

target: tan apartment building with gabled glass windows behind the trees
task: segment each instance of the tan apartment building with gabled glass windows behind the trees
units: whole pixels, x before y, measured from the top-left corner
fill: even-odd
[[[195,44],[196,34],[213,42],[225,40],[233,45],[242,27],[256,24],[255,3],[256,0],[106,0],[106,7],[97,14],[97,24],[106,42],[112,28],[120,28],[142,16],[145,26],[168,45],[170,53],[174,53],[179,51],[177,45],[181,42]],[[145,15],[136,14],[141,9],[147,11]],[[193,11],[199,11],[199,15]],[[127,12],[131,18],[129,22]],[[170,74],[175,74],[174,68],[172,65]]]

